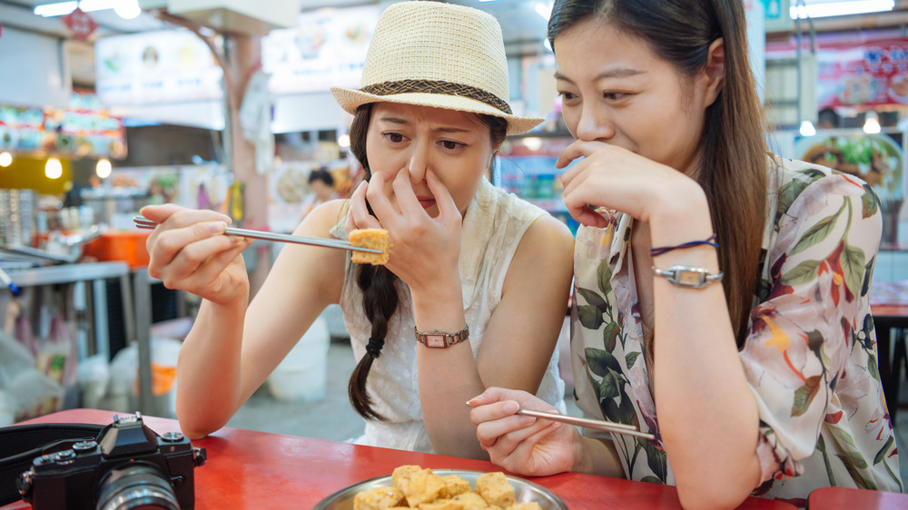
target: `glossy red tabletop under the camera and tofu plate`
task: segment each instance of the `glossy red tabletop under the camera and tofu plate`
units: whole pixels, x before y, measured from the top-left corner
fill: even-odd
[[[25,423],[94,423],[106,425],[113,413],[71,409]],[[158,434],[179,430],[176,420],[143,417]],[[390,475],[401,465],[437,469],[500,471],[481,460],[358,446],[322,439],[283,436],[225,427],[193,445],[206,448],[208,462],[195,468],[199,510],[243,508],[311,508],[335,491],[376,476]],[[531,478],[561,496],[572,510],[598,508],[681,508],[673,486],[646,484],[604,476],[562,473]],[[24,509],[19,502],[2,510]],[[791,510],[783,502],[747,498],[741,508]]]

